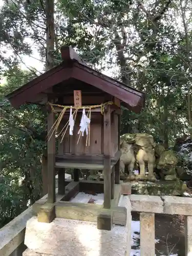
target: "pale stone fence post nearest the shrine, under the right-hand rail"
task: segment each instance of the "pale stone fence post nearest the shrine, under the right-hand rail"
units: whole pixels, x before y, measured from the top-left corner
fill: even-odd
[[[155,214],[140,213],[140,249],[142,256],[155,255]]]

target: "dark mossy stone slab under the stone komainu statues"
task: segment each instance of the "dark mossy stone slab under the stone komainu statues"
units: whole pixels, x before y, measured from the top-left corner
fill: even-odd
[[[132,181],[132,194],[150,196],[181,196],[186,185],[180,181]]]

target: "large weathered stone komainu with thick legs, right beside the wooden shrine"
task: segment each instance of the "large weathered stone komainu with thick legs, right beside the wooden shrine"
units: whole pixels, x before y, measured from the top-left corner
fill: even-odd
[[[129,179],[136,177],[133,173],[135,163],[139,165],[140,173],[137,176],[140,180],[145,180],[145,163],[147,164],[147,180],[155,181],[155,142],[152,135],[145,133],[124,134],[120,138],[121,158],[120,172],[124,174],[125,165],[129,168]]]

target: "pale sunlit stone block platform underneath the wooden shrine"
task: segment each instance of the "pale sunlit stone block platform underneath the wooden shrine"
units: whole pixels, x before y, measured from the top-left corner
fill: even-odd
[[[56,218],[40,223],[27,222],[23,256],[130,256],[131,203],[121,196],[119,206],[127,208],[126,226],[113,225],[111,231],[97,229],[97,223]]]

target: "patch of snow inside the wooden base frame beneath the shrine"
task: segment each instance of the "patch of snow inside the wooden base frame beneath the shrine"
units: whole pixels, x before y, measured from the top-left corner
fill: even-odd
[[[74,198],[70,200],[72,203],[84,203],[87,204],[90,199],[94,200],[95,204],[103,204],[104,202],[104,194],[90,195],[83,192],[79,192]]]

